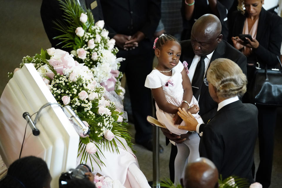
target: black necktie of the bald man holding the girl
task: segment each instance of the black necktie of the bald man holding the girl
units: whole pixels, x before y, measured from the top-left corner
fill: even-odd
[[[204,80],[204,74],[205,74],[205,58],[207,56],[202,56],[200,61],[197,64],[197,67],[195,69],[195,73],[192,80],[192,91],[194,97],[198,100],[201,86]]]

